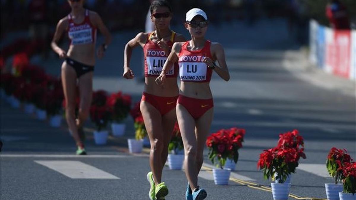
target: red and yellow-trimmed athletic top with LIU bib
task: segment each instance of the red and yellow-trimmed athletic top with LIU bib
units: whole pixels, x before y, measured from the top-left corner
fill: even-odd
[[[161,74],[163,65],[167,60],[168,54],[159,48],[158,44],[152,42],[151,36],[154,32],[148,35],[145,46],[143,46],[143,54],[145,56],[145,77],[158,77]],[[167,42],[168,48],[173,46],[176,33],[172,31],[171,40]],[[177,77],[178,63],[174,63],[174,67],[166,72],[166,77]]]

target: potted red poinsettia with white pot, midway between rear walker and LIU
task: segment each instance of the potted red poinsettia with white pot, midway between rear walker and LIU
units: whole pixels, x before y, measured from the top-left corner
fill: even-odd
[[[108,97],[106,102],[111,111],[111,130],[112,135],[122,136],[125,133],[125,124],[122,123],[129,115],[131,109],[131,96],[121,92],[113,93]]]

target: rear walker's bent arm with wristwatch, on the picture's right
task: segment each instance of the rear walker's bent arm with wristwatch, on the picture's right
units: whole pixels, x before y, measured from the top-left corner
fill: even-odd
[[[97,14],[96,12],[90,11],[90,16],[91,16],[91,21],[93,22],[93,25],[98,27],[99,31],[104,36],[105,42],[103,44],[101,44],[98,48],[98,58],[101,59],[104,56],[104,52],[105,52],[106,48],[111,43],[112,37],[111,37],[111,34],[110,34],[108,28],[105,26],[105,24],[99,14]]]

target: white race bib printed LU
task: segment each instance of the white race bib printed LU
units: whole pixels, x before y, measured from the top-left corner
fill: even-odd
[[[179,77],[181,81],[206,80],[206,64],[202,62],[179,62]]]

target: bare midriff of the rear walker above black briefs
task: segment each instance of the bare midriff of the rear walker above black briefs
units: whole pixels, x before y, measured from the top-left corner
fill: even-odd
[[[67,56],[87,65],[95,65],[95,44],[70,45]]]

